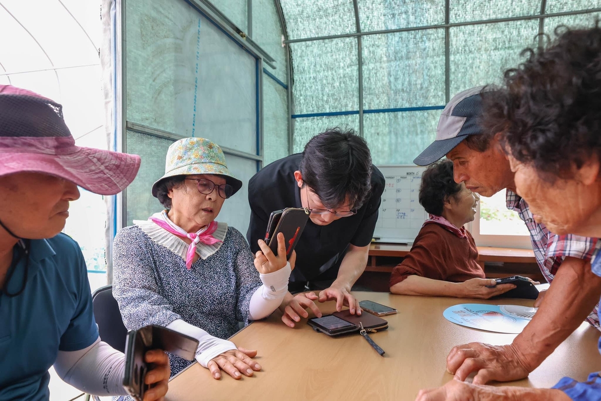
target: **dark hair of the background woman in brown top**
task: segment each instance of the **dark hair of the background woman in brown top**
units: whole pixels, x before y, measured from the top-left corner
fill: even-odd
[[[456,197],[461,184],[453,179],[453,162],[448,159],[431,164],[421,175],[419,204],[431,215],[442,215],[445,200]]]

